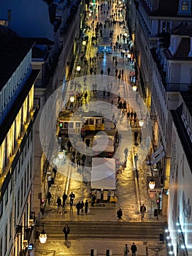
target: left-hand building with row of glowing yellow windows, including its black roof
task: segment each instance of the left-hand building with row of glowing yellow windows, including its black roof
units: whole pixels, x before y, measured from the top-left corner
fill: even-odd
[[[33,219],[34,42],[1,35],[0,75],[0,255],[26,250]],[[21,227],[18,233],[18,226]],[[26,231],[28,230],[28,232]]]

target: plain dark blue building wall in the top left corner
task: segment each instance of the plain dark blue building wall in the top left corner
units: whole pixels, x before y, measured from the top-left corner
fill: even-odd
[[[53,40],[53,25],[50,23],[48,6],[42,0],[1,0],[0,20],[7,20],[11,10],[9,29],[20,37],[47,37]]]

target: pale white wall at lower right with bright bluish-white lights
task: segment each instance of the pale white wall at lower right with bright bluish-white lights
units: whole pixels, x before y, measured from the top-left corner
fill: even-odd
[[[185,157],[183,146],[173,125],[172,128],[172,157],[169,185],[169,230],[176,255],[178,227],[180,225],[185,237],[185,245],[188,249],[188,255],[192,255],[192,216],[191,216],[191,181],[192,173]],[[179,253],[177,255],[180,255]]]

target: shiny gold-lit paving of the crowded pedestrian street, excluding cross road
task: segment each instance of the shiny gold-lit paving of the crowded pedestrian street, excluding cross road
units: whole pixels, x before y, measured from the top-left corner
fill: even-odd
[[[99,2],[101,4],[101,2]],[[102,2],[104,3],[104,2]],[[115,8],[117,7],[117,8]],[[107,14],[107,3],[105,3],[105,14],[104,10],[97,14],[97,20],[95,20],[94,25],[96,25],[96,21],[104,24],[104,20],[110,19],[110,15],[120,10],[122,6],[119,4],[112,4],[110,7],[110,11]],[[114,10],[112,12],[112,10]],[[115,16],[116,17],[116,16]],[[115,18],[116,19],[116,18]],[[124,19],[124,11],[120,16],[117,16],[117,20],[122,21]],[[93,17],[88,18],[88,26],[91,26]],[[112,38],[109,37],[110,31],[113,30]],[[98,87],[101,91],[107,89],[107,83],[112,82],[112,95],[110,94],[109,98],[106,98],[104,103],[110,102],[111,99],[114,99],[114,102],[117,102],[117,95],[120,94],[121,99],[125,99],[127,102],[127,108],[130,110],[136,110],[139,106],[141,107],[139,111],[143,111],[145,105],[141,104],[141,100],[138,97],[139,92],[134,92],[132,90],[132,83],[130,83],[129,75],[130,72],[133,71],[133,66],[129,63],[126,57],[121,56],[121,51],[128,48],[127,40],[126,43],[123,42],[123,39],[118,40],[118,45],[121,44],[122,48],[120,50],[114,50],[113,46],[117,41],[117,37],[120,34],[125,34],[128,32],[128,29],[125,25],[112,25],[106,27],[106,29],[102,29],[103,37],[99,37],[96,44],[91,43],[91,36],[93,35],[93,29],[87,31],[89,40],[87,50],[85,52],[85,56],[88,59],[88,64],[83,65],[80,71],[73,73],[74,79],[81,79],[82,75],[87,75],[87,84],[89,84],[88,90],[88,102],[91,102],[93,99],[93,95],[91,92],[92,81],[96,77],[97,81],[101,82],[103,79],[103,83],[98,83]],[[104,53],[104,58],[101,57],[96,59],[96,63],[93,61],[89,61],[90,57],[96,56],[99,45],[111,45],[112,44],[112,54]],[[115,67],[115,62],[112,61],[112,56],[117,57],[118,65]],[[96,69],[96,75],[90,75],[90,68]],[[107,68],[110,67],[110,75],[107,75]],[[115,69],[118,68],[119,71],[123,69],[123,79],[118,79],[115,75]],[[76,69],[76,68],[75,68]],[[74,69],[74,70],[75,70]],[[104,70],[104,75],[100,75],[101,69]],[[95,95],[94,95],[95,97]],[[97,95],[97,98],[102,97],[101,94]],[[140,100],[140,101],[139,101]],[[138,101],[138,102],[137,102]],[[146,165],[146,157],[149,151],[149,145],[147,143],[148,135],[150,134],[150,126],[147,125],[147,119],[145,120],[145,125],[140,129],[142,138],[139,139],[139,145],[134,145],[134,129],[131,127],[130,122],[121,114],[118,116],[117,104],[108,109],[109,113],[106,115],[112,116],[112,113],[115,113],[115,118],[118,120],[117,128],[122,135],[122,140],[120,145],[118,146],[117,157],[120,158],[120,162],[123,162],[124,159],[124,148],[128,147],[128,160],[126,163],[126,168],[122,172],[118,172],[118,187],[115,191],[115,196],[118,198],[117,203],[96,203],[95,206],[89,206],[90,214],[80,214],[77,215],[77,210],[73,207],[73,210],[69,208],[69,197],[66,201],[66,208],[62,211],[58,212],[56,206],[57,197],[62,195],[64,192],[69,196],[70,192],[74,192],[76,195],[74,199],[74,205],[80,200],[84,201],[85,199],[90,198],[90,187],[89,184],[82,182],[83,177],[86,176],[86,171],[83,173],[81,171],[77,171],[77,167],[72,166],[70,160],[70,154],[66,156],[66,162],[58,167],[58,172],[55,176],[55,184],[50,187],[50,193],[52,195],[50,205],[46,204],[45,214],[42,217],[42,222],[45,220],[66,220],[67,221],[108,221],[108,222],[117,222],[117,210],[118,208],[122,208],[123,210],[123,222],[141,222],[141,217],[139,213],[139,208],[142,203],[145,204],[147,208],[147,212],[145,214],[144,222],[166,222],[166,218],[161,215],[158,216],[158,219],[153,216],[154,208],[156,208],[156,200],[155,198],[150,199],[147,191],[147,176],[151,176],[150,166]],[[91,107],[82,106],[82,110],[89,110]],[[100,105],[100,108],[106,108],[105,105]],[[146,110],[146,109],[145,109]],[[138,110],[137,110],[138,113]],[[112,117],[111,117],[112,118]],[[109,127],[109,129],[111,129]],[[136,129],[137,130],[137,129]],[[137,162],[137,166],[134,162],[134,156],[138,154],[139,159]],[[90,159],[87,157],[86,161],[88,162]],[[136,167],[138,173],[136,172]],[[66,173],[70,170],[71,176],[69,181],[67,181]],[[89,203],[90,205],[91,203]],[[64,244],[64,241],[49,241],[49,243],[45,245],[40,245],[37,247],[37,251],[35,255],[42,255],[42,251],[44,252],[47,249],[46,255],[90,255],[90,249],[97,249],[98,255],[105,255],[105,250],[112,249],[113,255],[123,255],[123,246],[128,242],[128,246],[133,241],[102,241],[102,240],[94,240],[94,241],[70,241],[69,244]],[[155,256],[163,256],[166,255],[166,247],[164,244],[160,244],[159,241],[136,241],[138,246],[138,256],[139,255],[155,255]],[[51,252],[50,248],[54,248],[53,252]],[[56,249],[57,248],[57,249]],[[55,253],[56,252],[56,253]],[[79,254],[78,254],[79,252]],[[54,254],[55,253],[55,254]],[[130,255],[130,252],[129,252]]]

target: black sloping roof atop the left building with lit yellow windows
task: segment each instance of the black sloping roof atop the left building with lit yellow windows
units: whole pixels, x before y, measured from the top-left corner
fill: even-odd
[[[0,34],[0,90],[15,72],[34,42],[23,37]]]

